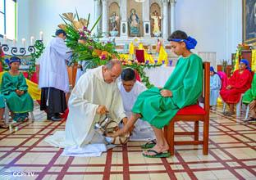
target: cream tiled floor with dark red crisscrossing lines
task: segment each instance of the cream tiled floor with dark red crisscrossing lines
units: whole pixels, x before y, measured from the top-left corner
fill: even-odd
[[[47,121],[36,108],[34,122],[0,130],[0,179],[256,179],[256,125],[225,118],[221,107],[210,113],[208,155],[202,146],[176,146],[167,159],[145,158],[139,147],[144,142],[128,142],[96,158],[60,156],[63,149],[43,138],[64,130],[65,122]],[[191,127],[176,124],[177,130]]]

